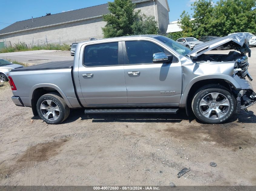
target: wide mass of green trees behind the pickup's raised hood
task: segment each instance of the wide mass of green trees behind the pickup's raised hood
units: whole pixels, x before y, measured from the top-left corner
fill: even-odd
[[[256,0],[198,0],[194,13],[181,14],[179,25],[185,36],[226,36],[234,32],[256,32]],[[193,20],[191,20],[193,18]]]

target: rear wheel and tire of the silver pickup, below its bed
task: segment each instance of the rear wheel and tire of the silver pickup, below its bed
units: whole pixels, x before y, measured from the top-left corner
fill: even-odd
[[[44,107],[41,107],[41,104],[45,106],[45,109],[42,109]],[[41,96],[37,101],[36,108],[40,118],[48,124],[62,123],[68,118],[70,113],[70,108],[65,100],[54,92]],[[43,116],[43,114],[48,116]]]

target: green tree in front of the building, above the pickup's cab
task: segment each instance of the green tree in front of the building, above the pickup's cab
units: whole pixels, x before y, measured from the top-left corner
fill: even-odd
[[[106,22],[102,27],[105,38],[140,34],[157,34],[158,25],[154,17],[135,11],[131,0],[114,0],[108,2],[109,14],[103,15]]]

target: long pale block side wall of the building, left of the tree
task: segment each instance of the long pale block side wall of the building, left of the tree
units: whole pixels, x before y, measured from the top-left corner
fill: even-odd
[[[27,45],[46,44],[48,43],[70,44],[72,42],[82,42],[94,37],[100,39],[103,37],[101,27],[105,26],[102,17],[77,21],[67,24],[60,24],[51,27],[26,30],[18,33],[12,33],[0,36],[2,40],[11,41],[12,45],[18,42],[26,43]],[[3,39],[1,39],[3,38]],[[34,38],[34,40],[33,40]]]

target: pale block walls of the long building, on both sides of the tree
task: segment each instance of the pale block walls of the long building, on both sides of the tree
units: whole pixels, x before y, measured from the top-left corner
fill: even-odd
[[[155,1],[156,2],[156,1]],[[160,3],[155,5],[156,19],[161,32],[166,32],[168,27],[168,11]],[[141,2],[136,4],[135,10],[141,9],[141,12],[147,16],[155,16],[154,2]],[[163,13],[162,13],[163,11]],[[167,13],[166,13],[167,11]],[[103,38],[101,27],[105,26],[102,17],[92,18],[84,21],[76,21],[67,24],[60,24],[39,29],[26,30],[22,32],[0,35],[0,42],[10,41],[12,45],[26,43],[27,45],[46,44],[48,43],[66,43],[82,42],[94,37]],[[166,27],[166,29],[165,29]],[[46,37],[45,37],[46,36]]]

